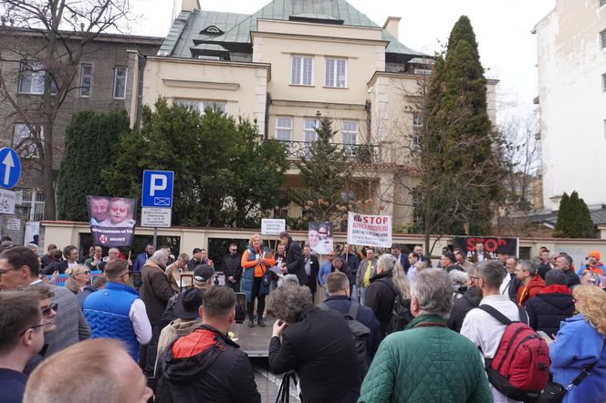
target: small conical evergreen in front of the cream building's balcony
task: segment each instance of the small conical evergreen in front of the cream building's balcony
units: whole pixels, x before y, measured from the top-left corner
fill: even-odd
[[[341,191],[347,188],[353,168],[350,155],[332,142],[337,131],[330,119],[322,119],[316,133],[307,155],[296,164],[301,187],[290,191],[290,197],[307,212],[308,221],[333,221],[342,213]]]

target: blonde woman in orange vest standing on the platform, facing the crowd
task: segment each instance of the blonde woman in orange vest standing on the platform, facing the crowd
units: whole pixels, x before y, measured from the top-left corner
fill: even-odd
[[[242,286],[241,290],[246,294],[246,310],[248,311],[248,327],[255,327],[255,299],[256,299],[256,323],[265,327],[263,311],[265,311],[265,297],[269,293],[269,284],[263,281],[266,270],[276,264],[276,258],[266,255],[263,247],[261,234],[255,233],[248,241],[246,251],[242,253]]]

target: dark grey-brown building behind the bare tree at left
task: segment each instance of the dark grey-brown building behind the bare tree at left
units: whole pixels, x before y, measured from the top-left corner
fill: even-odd
[[[76,48],[78,33],[69,36],[67,48]],[[131,111],[132,88],[138,86],[138,69],[129,65],[131,53],[154,55],[162,38],[149,36],[123,36],[101,34],[85,47],[77,67],[73,88],[58,110],[53,128],[53,177],[57,172],[65,144],[65,132],[74,113],[82,109],[106,112],[112,108],[126,108]],[[31,140],[31,131],[20,112],[27,120],[36,124],[40,117],[40,103],[44,92],[45,69],[38,65],[34,57],[39,57],[45,48],[44,38],[36,31],[0,27],[0,82],[12,98],[17,109],[0,95],[0,148],[13,147],[21,155],[24,170],[17,184],[17,202],[30,207],[28,219],[42,220],[45,194],[42,175],[37,164],[39,150]],[[65,49],[65,48],[64,48]],[[1,94],[1,92],[0,92]],[[54,96],[54,95],[53,95]],[[44,140],[44,127],[40,127]],[[82,144],[82,147],[87,147]],[[54,220],[55,217],[46,217]]]

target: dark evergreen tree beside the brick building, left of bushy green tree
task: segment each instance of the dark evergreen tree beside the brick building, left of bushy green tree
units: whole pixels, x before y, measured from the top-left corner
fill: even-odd
[[[129,130],[124,109],[83,110],[72,117],[58,175],[60,220],[88,221],[85,196],[108,194],[100,180],[101,170],[113,163],[120,133]]]

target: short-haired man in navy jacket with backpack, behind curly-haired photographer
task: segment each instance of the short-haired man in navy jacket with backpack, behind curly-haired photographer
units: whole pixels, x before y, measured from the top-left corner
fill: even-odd
[[[352,319],[369,328],[370,335],[365,337],[365,341],[367,361],[370,366],[372,357],[377,352],[381,343],[381,332],[379,331],[377,318],[372,313],[371,308],[351,300],[350,281],[347,278],[347,274],[341,272],[329,274],[326,278],[326,289],[329,292],[329,298],[321,305],[326,305],[330,309],[340,312],[341,315],[349,315],[351,310],[357,306],[358,315]]]

